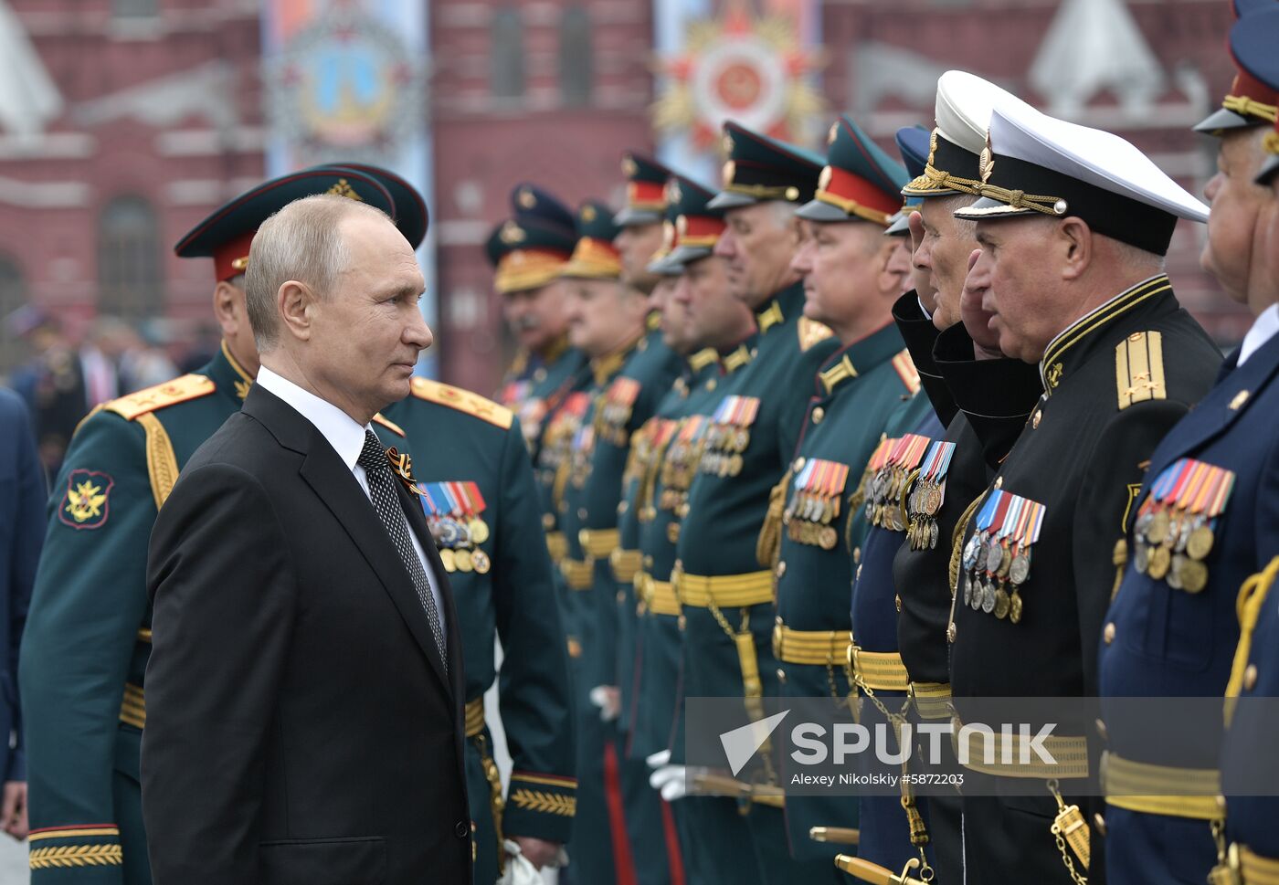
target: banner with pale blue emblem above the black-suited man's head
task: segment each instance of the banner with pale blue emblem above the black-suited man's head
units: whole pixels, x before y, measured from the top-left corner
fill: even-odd
[[[426,0],[263,0],[266,174],[367,162],[409,182],[427,206],[432,147]],[[435,326],[435,229],[418,249],[421,308]],[[435,375],[434,350],[418,371]],[[431,356],[425,356],[431,354]]]

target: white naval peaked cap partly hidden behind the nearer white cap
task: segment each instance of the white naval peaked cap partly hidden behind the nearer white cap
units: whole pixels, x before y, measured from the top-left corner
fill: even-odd
[[[936,128],[923,174],[902,193],[907,197],[945,197],[977,193],[977,157],[986,147],[991,111],[1000,105],[1031,106],[990,81],[967,70],[948,70],[938,78]]]

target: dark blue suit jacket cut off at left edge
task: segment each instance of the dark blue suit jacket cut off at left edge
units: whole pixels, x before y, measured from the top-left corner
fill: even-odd
[[[26,780],[18,715],[18,641],[45,540],[45,472],[22,399],[0,389],[0,780]],[[9,749],[9,734],[18,744]]]

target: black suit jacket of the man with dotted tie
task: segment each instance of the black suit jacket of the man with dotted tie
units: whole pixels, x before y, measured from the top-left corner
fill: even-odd
[[[156,885],[469,884],[462,639],[422,509],[404,509],[440,582],[448,677],[368,497],[306,418],[255,386],[187,463],[147,568]]]

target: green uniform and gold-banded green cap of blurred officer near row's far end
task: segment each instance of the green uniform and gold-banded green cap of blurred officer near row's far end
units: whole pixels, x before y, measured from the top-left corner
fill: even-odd
[[[565,276],[616,280],[620,262],[613,247],[616,226],[602,203],[585,203],[578,211],[581,234]],[[618,284],[620,285],[620,283]],[[574,825],[569,857],[581,881],[606,882],[629,852],[641,882],[663,882],[669,871],[660,799],[647,785],[643,760],[627,760],[618,748],[616,724],[600,720],[590,692],[616,685],[619,605],[610,558],[618,547],[618,504],[631,435],[652,416],[657,400],[679,371],[678,357],[660,336],[643,330],[618,353],[592,361],[592,384],[587,407],[573,435],[559,504],[560,527],[568,546],[563,563],[570,601],[569,633],[579,637],[582,656],[574,660],[578,698],[578,771],[602,767],[608,787],[618,784],[623,813],[610,813],[600,794],[600,806],[587,806]],[[624,767],[629,765],[632,776]],[[616,804],[613,806],[616,811]],[[611,825],[611,831],[601,826]]]

